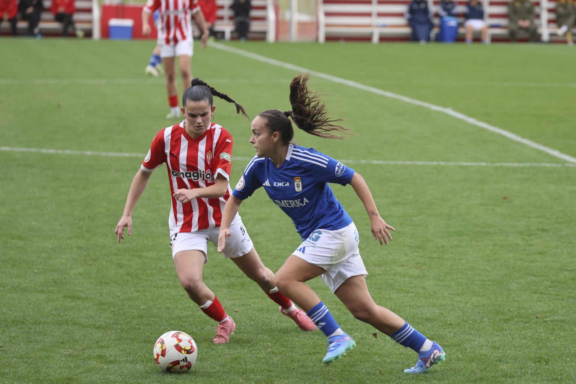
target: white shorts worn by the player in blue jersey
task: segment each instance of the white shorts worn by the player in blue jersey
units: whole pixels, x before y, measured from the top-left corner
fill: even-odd
[[[292,254],[323,268],[322,280],[334,293],[348,277],[367,276],[358,250],[359,234],[354,223],[335,230],[319,229]]]

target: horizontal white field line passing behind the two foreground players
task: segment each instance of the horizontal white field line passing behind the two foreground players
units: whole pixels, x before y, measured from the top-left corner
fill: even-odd
[[[98,152],[98,151],[77,151],[68,149],[44,149],[44,148],[22,148],[22,147],[0,147],[0,151],[6,152],[34,152],[60,155],[82,155],[82,156],[103,156],[103,157],[138,157],[144,158],[145,153],[126,152]],[[234,160],[248,161],[251,157],[234,156]],[[501,167],[573,167],[571,163],[490,163],[490,162],[457,162],[457,161],[393,161],[393,160],[340,160],[344,164],[374,164],[374,165],[459,165],[459,166],[501,166]]]

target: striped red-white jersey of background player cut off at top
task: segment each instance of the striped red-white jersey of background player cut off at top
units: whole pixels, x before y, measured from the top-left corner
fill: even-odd
[[[192,40],[190,15],[198,12],[198,0],[148,0],[144,10],[150,14],[160,10],[160,31],[164,44],[176,45],[180,41]]]

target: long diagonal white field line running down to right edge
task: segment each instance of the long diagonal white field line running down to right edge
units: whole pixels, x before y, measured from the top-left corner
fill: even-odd
[[[355,82],[355,81],[351,81],[351,80],[347,80],[347,79],[343,79],[340,77],[336,77],[336,76],[332,76],[332,75],[328,75],[322,72],[317,72],[317,71],[313,71],[310,70],[308,68],[304,68],[304,67],[300,67],[300,66],[296,66],[294,64],[289,64],[289,63],[285,63],[285,62],[281,62],[279,60],[275,60],[275,59],[271,59],[271,58],[267,58],[266,56],[262,56],[262,55],[257,55],[257,54],[253,54],[252,52],[248,52],[248,51],[244,51],[244,50],[239,50],[238,48],[233,48],[233,47],[228,47],[226,45],[223,44],[219,44],[219,43],[209,43],[211,47],[217,48],[218,50],[222,50],[222,51],[227,51],[227,52],[231,52],[233,54],[237,54],[237,55],[241,55],[241,56],[245,56],[247,58],[251,58],[251,59],[255,59],[258,60],[260,62],[264,62],[264,63],[268,63],[268,64],[272,64],[278,67],[282,67],[282,68],[286,68],[286,69],[290,69],[293,71],[298,71],[298,72],[309,72],[312,75],[316,76],[316,77],[320,77],[320,78],[324,78],[327,80],[331,80],[334,81],[336,83],[340,83],[340,84],[344,84],[344,85],[348,85],[351,86],[353,88],[357,88],[357,89],[362,89],[365,90],[367,92],[372,92],[375,94],[379,94],[381,96],[385,96],[385,97],[389,97],[389,98],[394,98],[396,100],[400,100],[400,101],[404,101],[407,102],[409,104],[414,104],[414,105],[419,105],[420,107],[424,107],[427,109],[431,109],[432,111],[437,111],[437,112],[441,112],[441,113],[445,113],[446,115],[452,116],[452,117],[456,117],[456,119],[460,119],[463,121],[466,121],[467,123],[473,124],[477,127],[480,128],[484,128],[485,130],[497,133],[499,135],[505,136],[506,138],[509,138],[510,140],[514,140],[518,143],[522,143],[524,145],[527,145],[529,147],[532,147],[534,149],[543,151],[545,153],[548,153],[554,157],[557,157],[559,159],[563,159],[564,161],[568,161],[571,163],[576,164],[576,158],[572,157],[570,155],[564,154],[558,150],[549,148],[547,146],[541,145],[539,143],[533,142],[532,140],[529,139],[525,139],[522,138],[521,136],[518,136],[516,134],[513,134],[512,132],[503,130],[502,128],[498,128],[495,126],[491,126],[488,123],[484,123],[483,121],[479,121],[474,119],[473,117],[469,117],[464,115],[463,113],[460,112],[456,112],[453,111],[450,108],[444,108],[444,107],[439,107],[438,105],[434,105],[434,104],[430,104],[429,102],[425,102],[425,101],[420,101],[420,100],[416,100],[414,98],[410,98],[410,97],[406,97],[406,96],[402,96],[400,94],[396,94],[396,93],[392,93],[392,92],[387,92],[385,90],[381,90],[378,88],[374,88],[371,86],[367,86],[367,85],[363,85],[361,83]]]

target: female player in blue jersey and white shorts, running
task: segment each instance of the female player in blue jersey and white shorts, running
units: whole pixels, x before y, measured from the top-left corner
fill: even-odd
[[[308,74],[300,74],[290,84],[292,111],[270,109],[252,121],[250,142],[256,156],[226,202],[218,251],[222,252],[226,239],[230,239],[228,226],[242,200],[257,188],[264,187],[272,202],[290,216],[302,237],[302,244],[276,273],[276,284],[307,311],[314,324],[328,337],[328,352],[322,362],[341,358],[356,343],[340,329],[328,308],[305,284],[317,276],[322,276],[354,317],[418,353],[416,365],[404,372],[425,372],[445,359],[444,351],[398,315],[374,303],[366,287],[367,272],[358,252],[358,230],[327,183],[352,185],[366,208],[372,235],[381,245],[392,240],[389,230],[395,229],[378,214],[362,176],[319,151],[291,143],[294,131],[289,117],[301,130],[323,138],[341,139],[331,132],[346,130],[333,124],[340,120],[327,116],[320,95],[308,90],[308,78]]]

